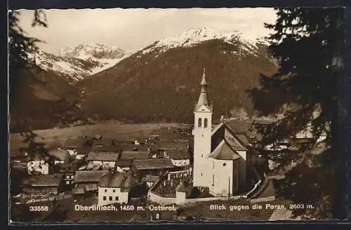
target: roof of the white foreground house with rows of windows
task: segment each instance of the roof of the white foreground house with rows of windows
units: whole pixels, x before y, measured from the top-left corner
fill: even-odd
[[[121,191],[129,191],[135,184],[131,173],[107,172],[101,177],[99,187],[121,188]]]

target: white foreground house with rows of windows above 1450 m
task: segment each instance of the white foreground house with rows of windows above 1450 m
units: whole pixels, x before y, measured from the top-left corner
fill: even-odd
[[[98,188],[98,205],[128,203],[129,191],[135,180],[131,173],[110,170],[101,177]]]

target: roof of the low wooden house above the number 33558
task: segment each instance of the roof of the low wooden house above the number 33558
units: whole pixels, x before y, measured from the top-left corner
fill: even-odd
[[[31,187],[58,187],[62,180],[62,173],[48,175],[32,175],[23,184]]]

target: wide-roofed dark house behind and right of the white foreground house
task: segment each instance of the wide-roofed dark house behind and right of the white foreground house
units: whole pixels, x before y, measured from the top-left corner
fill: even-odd
[[[138,175],[138,180],[141,181],[145,175],[164,175],[166,171],[175,168],[176,166],[173,165],[170,158],[148,158],[135,159],[132,170],[135,175]]]

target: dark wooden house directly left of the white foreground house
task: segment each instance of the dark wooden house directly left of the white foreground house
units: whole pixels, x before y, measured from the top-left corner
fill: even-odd
[[[98,195],[98,184],[108,170],[81,170],[74,175],[74,198],[86,198]]]

